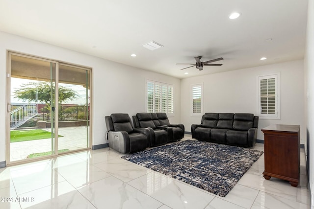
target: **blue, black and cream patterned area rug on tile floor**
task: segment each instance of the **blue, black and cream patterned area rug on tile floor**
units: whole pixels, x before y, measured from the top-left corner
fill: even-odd
[[[206,141],[184,140],[122,159],[224,197],[262,153]]]

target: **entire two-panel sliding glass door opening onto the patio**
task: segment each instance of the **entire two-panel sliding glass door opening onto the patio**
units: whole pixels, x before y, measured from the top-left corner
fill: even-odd
[[[89,148],[90,70],[8,56],[7,163]]]

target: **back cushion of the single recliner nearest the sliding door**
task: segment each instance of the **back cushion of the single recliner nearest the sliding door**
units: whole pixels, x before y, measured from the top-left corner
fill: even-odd
[[[129,134],[133,132],[131,119],[128,114],[111,114],[114,131],[126,131]]]

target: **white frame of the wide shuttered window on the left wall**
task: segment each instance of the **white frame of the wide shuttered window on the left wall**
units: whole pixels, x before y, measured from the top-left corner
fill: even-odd
[[[163,95],[162,94],[162,90],[164,91],[163,88],[167,87],[167,90],[166,90],[166,92],[167,92],[167,95],[166,95],[167,100],[166,100],[166,105],[165,105],[166,107],[162,106],[162,103],[161,103],[161,105],[159,105],[159,108],[156,108],[156,106],[153,105],[153,112],[149,111],[148,93],[149,93],[149,91],[151,91],[148,88],[148,84],[149,83],[153,83],[154,84],[154,89],[155,89],[156,85],[159,85],[159,87],[160,87],[159,98],[160,99],[162,98],[162,95]],[[163,82],[154,81],[154,80],[150,80],[150,79],[146,79],[145,84],[146,84],[145,85],[145,109],[146,109],[146,112],[147,113],[166,113],[167,116],[174,116],[174,113],[175,113],[175,108],[174,108],[175,107],[175,105],[174,105],[174,98],[175,98],[175,96],[174,96],[174,94],[175,94],[174,89],[175,89],[175,87],[174,87],[174,84],[163,83]],[[168,98],[168,96],[169,96],[169,88],[172,91],[170,104],[169,104],[169,98]],[[157,93],[155,93],[155,90],[153,92],[154,92],[154,95],[157,94]],[[153,101],[153,103],[155,103],[155,102]],[[171,105],[171,103],[172,103],[172,105]],[[160,104],[160,101],[159,101],[159,104]],[[171,106],[170,108],[169,108],[169,105]],[[166,112],[163,111],[164,108],[166,109]],[[172,109],[172,112],[171,112],[171,109]]]

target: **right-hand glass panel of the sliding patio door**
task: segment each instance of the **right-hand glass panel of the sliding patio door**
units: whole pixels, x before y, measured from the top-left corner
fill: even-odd
[[[89,147],[89,75],[90,70],[59,64],[58,131],[63,137],[58,138],[58,148],[61,151]]]

